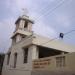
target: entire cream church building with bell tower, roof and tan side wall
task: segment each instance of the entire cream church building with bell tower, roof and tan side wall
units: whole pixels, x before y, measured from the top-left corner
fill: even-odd
[[[2,75],[72,75],[75,73],[75,47],[32,32],[34,22],[22,15],[15,22],[12,45],[5,55]],[[70,73],[69,73],[70,72]],[[46,73],[46,74],[45,74]]]

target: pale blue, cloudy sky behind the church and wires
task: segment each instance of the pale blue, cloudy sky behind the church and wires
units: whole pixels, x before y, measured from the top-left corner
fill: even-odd
[[[27,9],[34,20],[34,33],[55,38],[59,33],[75,30],[75,0],[0,0],[0,52],[11,45],[15,21]],[[75,45],[75,31],[64,36],[65,43]]]

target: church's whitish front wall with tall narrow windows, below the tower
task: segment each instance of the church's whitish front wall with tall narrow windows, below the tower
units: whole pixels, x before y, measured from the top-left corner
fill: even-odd
[[[32,70],[32,51],[33,45],[30,45],[31,39],[24,40],[21,43],[15,44],[12,46],[11,55],[10,55],[10,62],[7,65],[7,55],[5,56],[4,65],[2,75],[30,75]],[[23,47],[29,47],[28,50],[28,63],[23,63]],[[17,53],[17,63],[16,68],[14,66],[14,53]]]

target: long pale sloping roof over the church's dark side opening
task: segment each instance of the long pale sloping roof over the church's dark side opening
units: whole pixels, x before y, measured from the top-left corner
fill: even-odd
[[[74,52],[75,47],[70,44],[66,44],[63,42],[63,40],[52,40],[50,38],[46,38],[40,35],[33,34],[33,44],[53,48],[61,51],[66,52]]]

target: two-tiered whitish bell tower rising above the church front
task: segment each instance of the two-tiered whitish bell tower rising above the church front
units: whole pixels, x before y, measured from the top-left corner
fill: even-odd
[[[33,23],[34,22],[27,15],[22,15],[17,19],[15,22],[16,28],[12,36],[12,45],[32,35]]]

